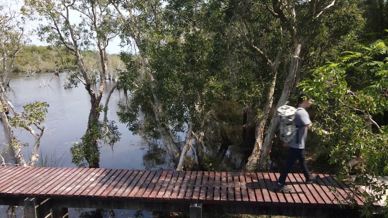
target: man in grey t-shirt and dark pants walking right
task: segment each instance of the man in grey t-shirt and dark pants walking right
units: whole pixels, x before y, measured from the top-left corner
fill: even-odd
[[[298,95],[298,104],[299,107],[295,114],[295,125],[298,130],[295,133],[293,140],[291,140],[287,145],[289,147],[288,151],[288,159],[286,162],[286,166],[279,177],[277,190],[284,192],[291,192],[291,188],[285,185],[286,177],[288,171],[294,166],[296,161],[299,161],[299,164],[302,168],[303,174],[305,175],[305,183],[312,184],[313,180],[315,180],[315,176],[310,174],[310,171],[306,165],[306,157],[305,157],[305,143],[307,138],[307,132],[311,128],[310,116],[306,109],[311,106],[314,102],[313,99],[308,98],[305,92],[302,92]]]

